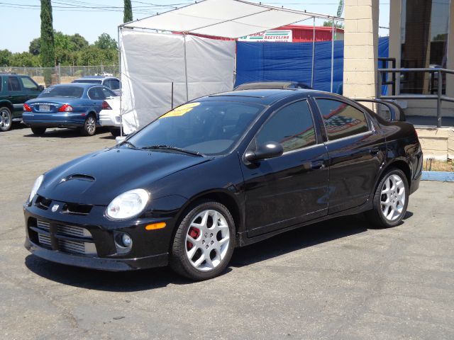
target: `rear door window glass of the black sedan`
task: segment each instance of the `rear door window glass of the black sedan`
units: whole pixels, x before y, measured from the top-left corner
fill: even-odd
[[[325,123],[328,140],[358,135],[369,131],[365,114],[353,106],[333,99],[316,99]]]

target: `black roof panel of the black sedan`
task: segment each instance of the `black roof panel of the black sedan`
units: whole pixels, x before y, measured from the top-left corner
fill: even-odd
[[[309,95],[315,94],[326,94],[326,92],[309,89],[253,89],[211,94],[195,99],[194,101],[243,101],[271,105],[287,97],[299,95],[300,98],[306,98]]]

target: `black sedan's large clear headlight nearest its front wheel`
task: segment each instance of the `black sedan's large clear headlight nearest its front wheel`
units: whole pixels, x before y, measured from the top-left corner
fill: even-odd
[[[143,189],[126,191],[112,200],[107,206],[106,215],[112,220],[135,217],[145,209],[149,199],[150,194]]]

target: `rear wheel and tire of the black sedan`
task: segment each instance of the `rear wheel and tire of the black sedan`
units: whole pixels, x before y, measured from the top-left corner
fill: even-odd
[[[409,184],[404,172],[390,169],[378,183],[373,209],[366,216],[377,227],[394,227],[404,218],[408,204]]]

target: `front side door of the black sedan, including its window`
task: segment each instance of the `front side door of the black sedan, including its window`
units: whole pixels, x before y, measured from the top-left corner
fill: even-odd
[[[279,108],[255,135],[246,152],[272,141],[284,153],[255,164],[241,162],[248,237],[326,215],[328,154],[317,137],[306,99]]]

